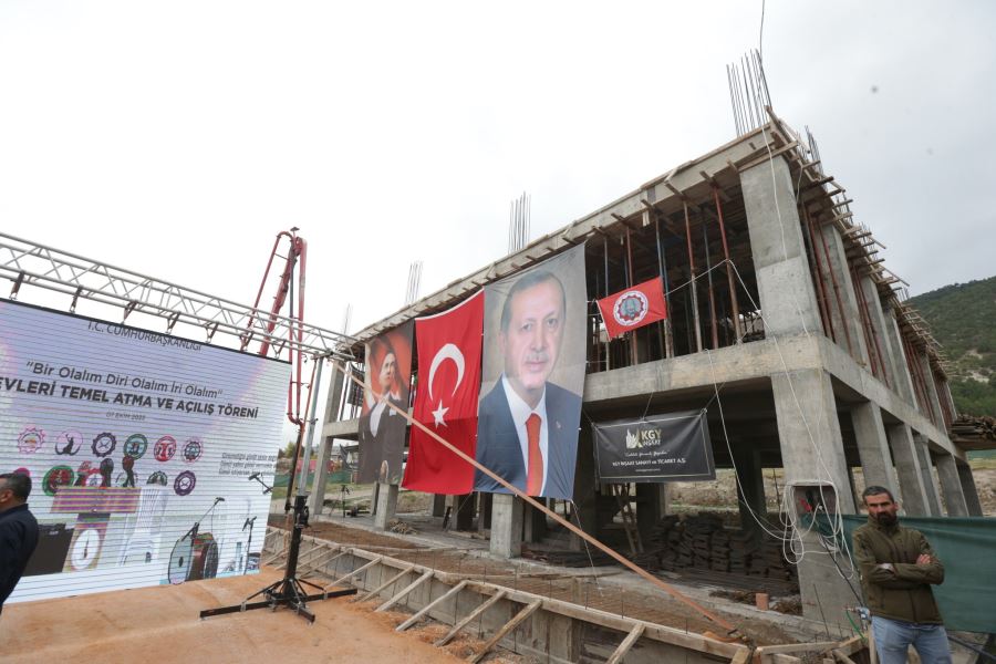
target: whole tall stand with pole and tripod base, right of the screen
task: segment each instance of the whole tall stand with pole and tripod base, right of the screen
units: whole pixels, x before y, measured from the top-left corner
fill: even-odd
[[[315,361],[318,364],[318,375],[315,376],[317,385],[321,384],[322,376],[322,362],[324,357],[317,357]],[[309,421],[309,440],[311,439],[311,434],[314,433],[314,422],[315,422],[315,406],[318,402],[318,390],[312,390],[312,402],[311,402],[311,414],[312,419]],[[299,438],[301,440],[301,438]],[[267,585],[262,590],[259,590],[248,598],[246,598],[241,604],[236,604],[234,606],[221,606],[220,609],[206,609],[200,612],[200,618],[209,618],[211,615],[224,615],[226,613],[240,613],[243,611],[251,611],[252,609],[263,609],[269,606],[272,610],[277,610],[278,606],[289,606],[294,610],[294,613],[303,616],[308,622],[314,622],[314,613],[312,613],[308,609],[308,602],[314,600],[326,600],[329,598],[339,598],[343,595],[356,594],[355,588],[350,588],[346,590],[335,590],[332,592],[325,591],[321,585],[312,583],[305,579],[298,579],[298,553],[301,550],[301,535],[302,531],[308,528],[308,466],[311,461],[310,459],[311,447],[304,447],[304,455],[301,459],[301,478],[298,481],[298,494],[294,496],[294,505],[293,505],[293,527],[291,529],[291,541],[290,548],[287,551],[287,569],[283,573],[283,579],[277,581],[276,583],[271,583]],[[297,458],[297,455],[294,455]],[[259,479],[259,477],[249,479],[256,479],[260,484],[266,487],[266,484]],[[267,487],[269,488],[269,487]],[[264,494],[269,492],[268,490],[263,491]],[[308,594],[304,585],[310,585],[318,590],[321,590],[320,593]],[[249,600],[257,598],[259,595],[263,595],[266,599],[259,602],[250,602]]]

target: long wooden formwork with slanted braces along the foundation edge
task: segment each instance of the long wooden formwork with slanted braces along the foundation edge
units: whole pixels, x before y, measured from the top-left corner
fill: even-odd
[[[282,548],[282,531],[268,529],[269,553]],[[750,660],[750,649],[739,643],[434,570],[388,553],[304,537],[299,558],[303,568],[299,569],[329,579],[330,588],[355,585],[364,593],[359,600],[378,601],[375,611],[404,602],[415,613],[397,625],[397,631],[430,619],[452,625],[449,633],[437,642],[445,645],[460,631],[473,630],[486,643],[471,662],[479,662],[499,645],[560,664],[623,661],[629,664],[672,661],[746,664]]]

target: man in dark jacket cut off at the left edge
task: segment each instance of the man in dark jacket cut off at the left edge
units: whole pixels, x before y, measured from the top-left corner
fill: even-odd
[[[28,510],[30,494],[31,478],[23,473],[0,475],[0,611],[38,546],[38,521]]]

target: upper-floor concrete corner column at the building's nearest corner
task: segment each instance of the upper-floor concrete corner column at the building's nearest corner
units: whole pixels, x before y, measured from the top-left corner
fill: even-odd
[[[765,332],[820,332],[822,323],[788,165],[776,157],[741,170],[740,187]]]

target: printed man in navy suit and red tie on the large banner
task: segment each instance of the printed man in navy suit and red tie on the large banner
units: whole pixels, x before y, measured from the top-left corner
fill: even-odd
[[[477,460],[530,496],[571,499],[581,396],[548,381],[566,309],[552,272],[529,272],[509,290],[498,334],[505,371],[480,401]],[[480,471],[474,488],[507,492]]]

